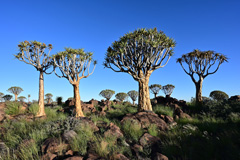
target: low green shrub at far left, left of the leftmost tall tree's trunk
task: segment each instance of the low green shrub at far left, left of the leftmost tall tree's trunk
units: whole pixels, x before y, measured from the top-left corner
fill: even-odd
[[[19,102],[6,102],[5,113],[8,115],[17,115],[24,113]]]

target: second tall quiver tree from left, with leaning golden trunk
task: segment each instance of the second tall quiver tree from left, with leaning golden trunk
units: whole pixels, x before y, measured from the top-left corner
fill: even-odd
[[[61,72],[61,75],[59,75],[55,70],[55,74],[60,78],[66,78],[73,85],[76,117],[84,117],[79,83],[82,78],[87,78],[91,75],[95,69],[97,62],[92,60],[92,55],[92,52],[72,48],[65,48],[65,51],[53,55],[54,66],[59,68]],[[91,62],[94,63],[94,68],[90,73]]]

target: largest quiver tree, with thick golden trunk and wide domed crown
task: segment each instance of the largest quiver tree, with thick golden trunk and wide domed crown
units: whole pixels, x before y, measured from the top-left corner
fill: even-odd
[[[115,41],[107,50],[104,66],[130,74],[139,84],[138,110],[152,111],[149,77],[164,67],[173,54],[175,41],[162,31],[138,29]]]

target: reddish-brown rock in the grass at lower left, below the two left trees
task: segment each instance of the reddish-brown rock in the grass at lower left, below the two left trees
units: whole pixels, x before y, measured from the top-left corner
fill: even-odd
[[[57,138],[48,138],[43,142],[42,153],[58,153],[62,150],[68,150],[69,144],[61,143]]]

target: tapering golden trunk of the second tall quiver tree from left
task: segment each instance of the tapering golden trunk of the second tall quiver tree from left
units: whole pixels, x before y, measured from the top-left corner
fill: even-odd
[[[76,117],[85,117],[82,111],[80,94],[79,94],[79,84],[73,85],[74,89],[74,99],[76,107]]]

